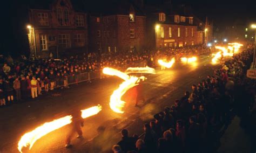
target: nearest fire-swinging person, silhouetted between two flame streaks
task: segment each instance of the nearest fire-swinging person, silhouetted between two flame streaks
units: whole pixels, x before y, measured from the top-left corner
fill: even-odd
[[[84,121],[82,118],[82,112],[80,110],[75,110],[71,113],[72,115],[72,128],[68,132],[68,135],[66,136],[66,145],[65,148],[70,148],[72,145],[70,144],[71,137],[77,132],[78,136],[77,138],[83,137],[83,132],[81,127],[84,126]]]

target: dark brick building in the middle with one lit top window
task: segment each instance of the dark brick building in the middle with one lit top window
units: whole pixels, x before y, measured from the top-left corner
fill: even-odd
[[[105,3],[101,4],[103,8],[97,8],[98,13],[92,7],[93,13],[89,17],[90,51],[104,53],[143,48],[146,27],[143,12],[130,1]],[[105,7],[110,3],[111,7]]]

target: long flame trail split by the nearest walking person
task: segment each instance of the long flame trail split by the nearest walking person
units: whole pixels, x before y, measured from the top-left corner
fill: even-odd
[[[102,106],[94,106],[91,108],[87,108],[84,110],[81,110],[82,117],[85,119],[86,117],[90,117],[93,115],[96,115],[102,110]],[[23,147],[28,147],[29,150],[32,148],[33,144],[41,137],[45,136],[46,134],[51,133],[52,131],[59,129],[61,127],[64,127],[72,122],[72,116],[68,115],[65,117],[62,117],[57,120],[53,120],[51,122],[46,122],[42,126],[37,127],[36,129],[25,133],[21,140],[18,142],[18,150],[19,152],[22,152]]]

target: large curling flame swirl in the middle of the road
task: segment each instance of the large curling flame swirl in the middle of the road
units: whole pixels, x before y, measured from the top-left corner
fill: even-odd
[[[152,73],[154,72],[153,68],[149,68],[149,67],[139,67],[139,68],[127,68],[126,71],[132,71],[133,73]],[[103,68],[103,73],[104,74],[108,74],[108,75],[115,75],[121,79],[124,80],[124,82],[122,84],[119,85],[119,88],[116,89],[113,94],[110,96],[110,108],[116,112],[116,113],[124,113],[124,111],[122,110],[124,108],[125,105],[125,101],[121,100],[122,96],[132,87],[137,86],[138,81],[140,79],[145,80],[146,78],[144,76],[142,77],[134,77],[131,76],[129,77],[129,75],[118,71],[117,69],[113,69],[113,68],[109,68],[109,67],[105,67]],[[128,77],[127,77],[128,76]]]

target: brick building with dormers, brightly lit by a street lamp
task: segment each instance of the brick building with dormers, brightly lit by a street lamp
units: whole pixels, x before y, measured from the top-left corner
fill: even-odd
[[[147,6],[147,46],[182,47],[203,44],[204,31],[194,24],[194,16],[173,12],[168,6]],[[160,8],[160,9],[159,9]],[[154,42],[154,43],[152,43]]]

